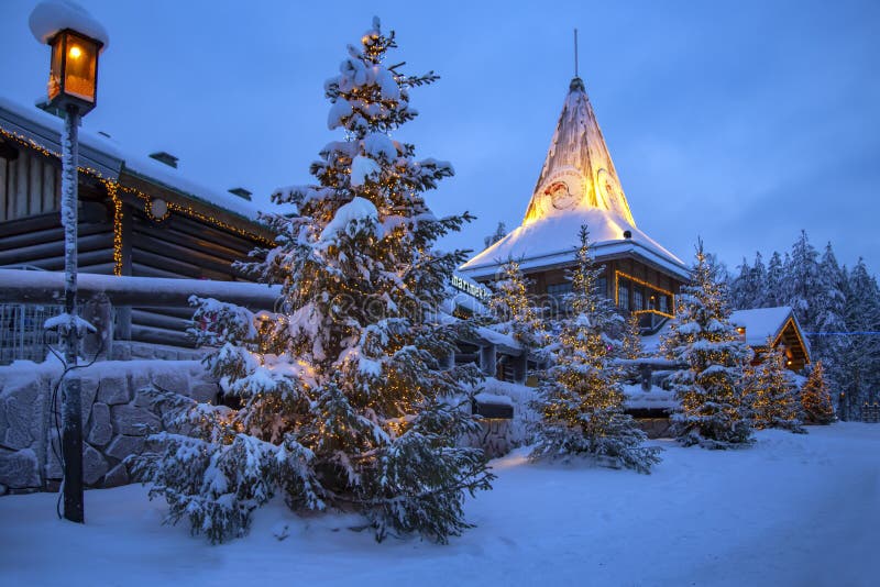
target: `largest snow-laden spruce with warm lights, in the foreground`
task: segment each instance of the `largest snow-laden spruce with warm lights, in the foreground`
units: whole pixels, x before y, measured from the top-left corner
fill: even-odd
[[[376,540],[446,542],[469,528],[465,492],[490,489],[482,451],[457,446],[479,429],[455,405],[477,375],[440,370],[457,326],[429,320],[463,261],[435,242],[469,217],[437,219],[424,192],[452,167],[388,136],[416,117],[409,90],[437,79],[386,67],[395,46],[374,20],[349,47],[324,87],[345,140],[311,165],[317,185],[273,196],[297,213],[268,218],[279,244],[250,269],[280,285],[277,311],[199,304],[219,345],[208,366],[241,408],[182,406],[195,436],[162,434],[164,452],[138,464],[169,520],[212,541],[242,534],[277,492],[295,511],[359,512]]]

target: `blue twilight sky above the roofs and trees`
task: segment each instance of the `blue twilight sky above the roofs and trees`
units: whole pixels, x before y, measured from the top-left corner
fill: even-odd
[[[265,199],[308,182],[323,81],[373,14],[391,59],[433,69],[396,135],[457,176],[430,197],[479,220],[482,248],[525,213],[573,75],[586,82],[639,228],[690,262],[702,235],[733,269],[801,229],[880,267],[880,2],[296,2],[81,0],[110,34],[86,126],[130,153],[168,151],[194,181]],[[0,0],[0,96],[44,92],[30,0]]]

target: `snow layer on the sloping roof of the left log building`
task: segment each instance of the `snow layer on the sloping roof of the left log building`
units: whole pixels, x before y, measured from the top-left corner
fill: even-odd
[[[251,221],[257,220],[260,209],[255,203],[222,189],[191,181],[179,169],[150,157],[132,155],[122,149],[117,141],[90,130],[88,120],[82,119],[79,132],[80,157],[100,159],[101,164],[96,165],[96,168],[109,178],[118,180],[119,175],[124,171],[175,191],[186,199],[227,210]],[[0,129],[24,134],[43,148],[53,153],[61,152],[63,125],[62,119],[36,107],[26,108],[0,97]]]

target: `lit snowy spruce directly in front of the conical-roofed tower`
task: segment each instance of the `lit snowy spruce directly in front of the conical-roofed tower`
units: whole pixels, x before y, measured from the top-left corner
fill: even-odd
[[[623,372],[615,365],[620,342],[606,333],[620,318],[596,288],[603,268],[581,229],[578,265],[572,275],[572,317],[562,321],[552,363],[541,374],[535,409],[541,414],[531,457],[593,457],[598,464],[650,473],[660,450],[645,446],[645,433],[624,413]]]

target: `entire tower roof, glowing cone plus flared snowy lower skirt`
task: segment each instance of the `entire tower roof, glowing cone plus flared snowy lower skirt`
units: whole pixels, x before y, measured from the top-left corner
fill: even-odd
[[[559,117],[522,224],[460,267],[490,277],[509,258],[524,270],[573,259],[582,225],[596,258],[636,255],[688,278],[685,265],[636,226],[584,82],[575,77]]]

